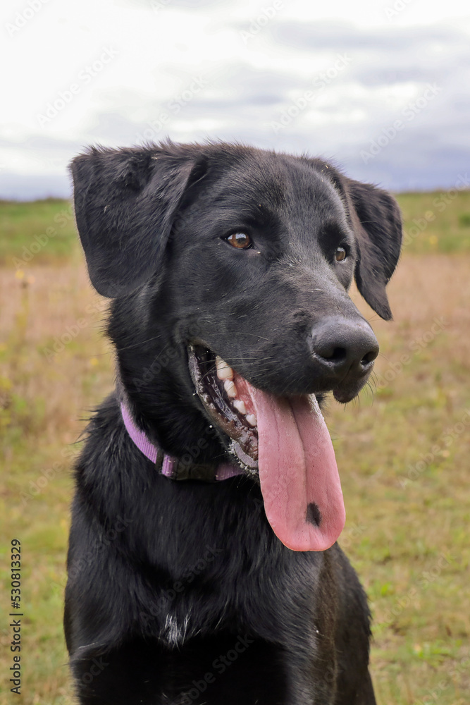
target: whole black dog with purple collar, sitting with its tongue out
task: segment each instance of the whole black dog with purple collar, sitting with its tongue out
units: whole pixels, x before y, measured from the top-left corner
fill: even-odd
[[[351,400],[373,367],[347,289],[390,319],[395,201],[320,159],[226,144],[90,149],[72,173],[118,360],[76,470],[80,703],[374,703],[317,400]]]

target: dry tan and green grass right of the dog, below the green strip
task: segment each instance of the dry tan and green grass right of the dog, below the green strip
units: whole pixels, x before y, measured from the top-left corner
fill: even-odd
[[[371,599],[381,705],[470,698],[470,258],[404,257],[375,393],[330,405],[348,522]],[[434,321],[440,325],[434,326]],[[402,355],[407,355],[401,360]],[[463,422],[462,422],[463,419]]]

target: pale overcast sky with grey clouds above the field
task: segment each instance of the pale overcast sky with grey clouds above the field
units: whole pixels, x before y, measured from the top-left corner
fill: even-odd
[[[223,139],[393,190],[470,187],[463,0],[9,0],[0,198],[70,195],[89,144]]]

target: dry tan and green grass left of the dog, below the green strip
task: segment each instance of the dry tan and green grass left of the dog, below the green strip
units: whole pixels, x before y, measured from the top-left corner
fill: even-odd
[[[113,384],[111,353],[100,335],[106,302],[92,292],[82,266],[34,267],[23,278],[3,270],[0,282],[1,545],[5,556],[12,538],[23,544],[23,702],[65,705],[72,699],[61,620],[70,453],[78,452],[70,444],[84,428],[80,417]],[[48,359],[57,339],[66,344]],[[1,608],[8,608],[5,600]],[[4,614],[1,623],[8,624]],[[2,644],[8,636],[5,629]],[[2,673],[12,665],[8,654]],[[0,695],[0,702],[11,698]]]

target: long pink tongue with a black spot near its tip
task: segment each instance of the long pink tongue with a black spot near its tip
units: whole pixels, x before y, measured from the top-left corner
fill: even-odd
[[[259,480],[268,522],[293,551],[325,551],[345,525],[335,451],[314,396],[286,399],[236,379],[258,419]],[[248,401],[248,400],[247,400]]]

